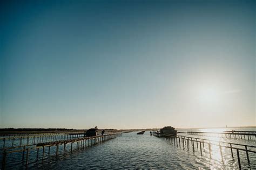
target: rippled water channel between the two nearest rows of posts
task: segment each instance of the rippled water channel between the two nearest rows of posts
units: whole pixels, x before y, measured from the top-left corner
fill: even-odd
[[[44,168],[197,168],[207,164],[167,141],[135,132],[51,161]],[[36,166],[36,165],[35,165]],[[39,165],[42,167],[41,165]]]

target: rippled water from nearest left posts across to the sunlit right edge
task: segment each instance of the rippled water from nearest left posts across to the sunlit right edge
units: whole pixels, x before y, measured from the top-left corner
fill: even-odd
[[[212,129],[211,129],[212,130]],[[226,130],[226,129],[225,129]],[[241,130],[241,129],[240,129]],[[245,129],[242,129],[245,130]],[[255,131],[255,129],[251,129]],[[179,130],[180,131],[180,130]],[[194,131],[194,130],[193,130]],[[205,129],[203,130],[205,131]],[[188,136],[186,133],[180,135]],[[235,140],[226,138],[215,138],[205,136],[194,136],[197,138],[208,138],[220,141],[232,141],[233,143],[248,144],[256,146],[256,140]],[[232,159],[230,149],[223,148],[224,164],[221,162],[219,147],[212,146],[212,159],[209,159],[208,147],[203,149],[203,155],[200,154],[195,146],[196,152],[190,145],[187,151],[186,147],[177,147],[171,144],[165,138],[150,136],[149,132],[143,135],[137,135],[136,132],[123,133],[121,136],[105,141],[85,150],[75,150],[70,153],[70,145],[67,145],[66,155],[63,156],[63,146],[59,147],[59,156],[55,156],[56,147],[51,147],[50,158],[48,158],[48,149],[45,151],[44,163],[42,155],[36,159],[36,151],[29,155],[29,168],[43,169],[83,169],[83,168],[238,168],[237,159]],[[8,169],[24,168],[21,164],[21,153],[14,153],[8,159]],[[236,156],[234,151],[234,156]],[[246,154],[241,152],[242,168],[256,167],[256,153],[250,153],[251,166],[247,165]],[[2,159],[2,157],[0,158]]]

